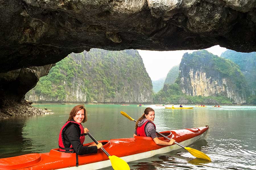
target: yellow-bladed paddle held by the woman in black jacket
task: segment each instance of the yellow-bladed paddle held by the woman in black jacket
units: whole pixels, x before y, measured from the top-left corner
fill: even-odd
[[[87,135],[90,136],[90,138],[98,145],[98,141],[96,141],[96,139],[89,132],[87,132]],[[110,159],[114,170],[130,170],[129,165],[124,160],[115,155],[110,156],[110,154],[103,147],[101,147],[101,149]]]

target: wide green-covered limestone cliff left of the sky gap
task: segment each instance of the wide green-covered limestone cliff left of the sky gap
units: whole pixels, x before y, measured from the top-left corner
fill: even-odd
[[[29,100],[152,102],[152,83],[137,50],[91,49],[89,52],[72,53],[57,63],[48,76],[28,92]],[[51,92],[42,90],[47,81],[51,82]]]

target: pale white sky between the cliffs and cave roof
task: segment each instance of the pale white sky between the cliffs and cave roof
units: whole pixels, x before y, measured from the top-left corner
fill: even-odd
[[[226,51],[226,48],[219,45],[212,46],[206,49],[208,52],[220,56],[220,54]],[[141,58],[143,59],[144,66],[148,72],[152,81],[166,77],[169,70],[179,65],[184,53],[192,53],[196,50],[177,50],[177,51],[148,51],[138,50]]]

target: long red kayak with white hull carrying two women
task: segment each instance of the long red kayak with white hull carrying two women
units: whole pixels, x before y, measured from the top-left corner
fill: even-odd
[[[163,135],[175,139],[176,142],[188,146],[192,143],[205,139],[208,126],[201,128],[190,128],[160,132]],[[162,141],[164,137],[159,137]],[[156,145],[151,137],[135,136],[132,138],[111,139],[100,141],[110,155],[115,155],[125,162],[149,158],[156,154],[163,154],[172,150],[180,149],[178,145],[164,146]],[[92,143],[84,144],[88,146]],[[146,144],[146,145],[145,145]],[[59,149],[52,149],[47,153],[32,153],[21,156],[0,159],[0,170],[94,170],[111,166],[108,156],[102,150],[96,154],[78,156],[79,166],[76,167],[76,154],[60,152]]]

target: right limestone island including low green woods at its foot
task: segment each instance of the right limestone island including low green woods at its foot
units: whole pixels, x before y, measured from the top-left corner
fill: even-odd
[[[179,74],[176,73],[178,78],[175,83],[165,84],[154,95],[155,103],[244,102],[247,94],[246,81],[239,66],[231,60],[220,58],[207,50],[198,50],[191,54],[185,53],[179,69],[181,70]]]

